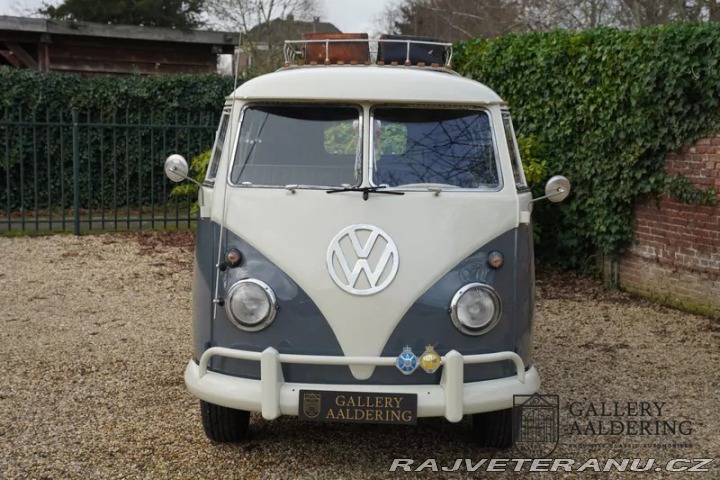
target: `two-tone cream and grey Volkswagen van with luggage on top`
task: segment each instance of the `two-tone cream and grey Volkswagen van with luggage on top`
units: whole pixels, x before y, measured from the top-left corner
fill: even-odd
[[[540,378],[534,200],[506,104],[427,39],[286,56],[227,98],[200,188],[185,383],[206,434],[240,440],[250,412],[472,415],[482,444],[511,445],[513,396]],[[187,177],[179,155],[165,168]],[[569,189],[554,177],[542,198]]]

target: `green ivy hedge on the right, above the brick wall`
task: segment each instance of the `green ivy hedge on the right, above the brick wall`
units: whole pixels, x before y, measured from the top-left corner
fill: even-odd
[[[539,142],[548,175],[573,184],[565,203],[537,205],[540,255],[563,266],[592,265],[633,240],[633,204],[667,191],[715,203],[665,156],[720,131],[720,24],[609,28],[471,40],[455,67],[509,103],[518,135]],[[541,185],[540,185],[541,187]]]

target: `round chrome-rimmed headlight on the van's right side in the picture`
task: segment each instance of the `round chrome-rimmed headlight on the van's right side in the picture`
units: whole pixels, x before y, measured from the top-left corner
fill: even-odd
[[[457,291],[450,302],[450,317],[458,330],[482,335],[500,319],[500,297],[484,283],[470,283]]]

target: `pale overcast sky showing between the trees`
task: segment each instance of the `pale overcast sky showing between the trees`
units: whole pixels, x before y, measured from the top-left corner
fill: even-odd
[[[0,15],[30,16],[43,3],[57,4],[59,0],[0,0]],[[376,33],[378,17],[393,0],[320,0],[323,20],[335,24],[343,32]]]

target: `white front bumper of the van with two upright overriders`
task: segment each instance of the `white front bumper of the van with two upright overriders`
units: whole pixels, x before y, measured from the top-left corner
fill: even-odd
[[[210,358],[221,356],[260,362],[260,380],[240,378],[208,371]],[[442,357],[443,371],[439,385],[353,385],[289,383],[283,379],[281,365],[374,365],[394,366],[395,357],[332,357],[278,353],[274,348],[262,352],[213,347],[203,353],[200,364],[188,362],[185,384],[190,393],[206,402],[237,410],[262,412],[273,420],[280,415],[297,415],[300,390],[342,390],[368,393],[417,394],[418,417],[445,417],[459,422],[463,415],[502,410],[513,406],[513,395],[531,395],[540,388],[535,367],[525,371],[520,356],[514,352],[483,355],[461,355],[451,350]],[[513,377],[464,383],[464,365],[512,361]]]

